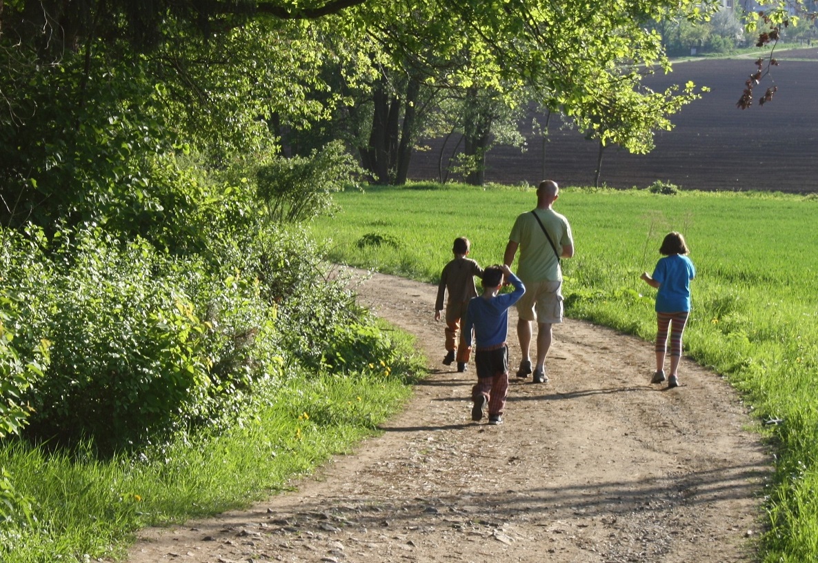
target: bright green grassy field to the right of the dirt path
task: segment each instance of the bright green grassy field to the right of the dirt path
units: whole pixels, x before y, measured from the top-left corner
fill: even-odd
[[[438,281],[452,241],[499,263],[533,189],[416,184],[336,197],[312,229],[333,259]],[[680,231],[697,268],[685,354],[729,378],[776,450],[763,561],[818,561],[818,198],[759,192],[564,189],[555,209],[573,227],[564,260],[567,314],[652,340],[658,247]],[[429,304],[429,311],[434,304]],[[649,352],[646,352],[649,354]]]

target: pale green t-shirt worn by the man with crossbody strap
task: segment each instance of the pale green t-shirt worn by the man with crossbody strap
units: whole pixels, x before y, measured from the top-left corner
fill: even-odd
[[[517,276],[523,283],[562,281],[557,254],[562,254],[563,246],[573,246],[571,226],[567,218],[553,209],[534,209],[534,213],[542,221],[542,226],[546,227],[557,251],[554,252],[554,248],[537,223],[537,218],[534,218],[530,211],[519,215],[509,235],[509,240],[519,245]]]

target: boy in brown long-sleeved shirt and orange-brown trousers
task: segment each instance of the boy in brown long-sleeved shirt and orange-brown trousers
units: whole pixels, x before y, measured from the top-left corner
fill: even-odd
[[[466,309],[469,307],[469,300],[477,297],[477,288],[474,286],[474,276],[483,277],[483,268],[473,259],[466,258],[469,255],[471,243],[465,236],[455,239],[452,252],[455,258],[443,267],[440,274],[440,285],[438,286],[438,300],[434,304],[434,320],[440,320],[440,313],[443,312],[443,295],[448,292],[446,302],[446,357],[443,358],[443,365],[450,366],[457,360],[457,371],[465,372],[466,364],[471,356],[471,346],[466,344],[464,335],[457,339],[457,332],[460,331],[461,322],[465,317]],[[455,343],[457,353],[455,354]]]

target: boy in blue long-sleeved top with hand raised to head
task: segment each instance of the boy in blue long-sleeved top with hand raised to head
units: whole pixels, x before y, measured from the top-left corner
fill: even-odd
[[[514,286],[514,291],[499,295],[506,282]],[[503,409],[506,408],[506,394],[509,389],[509,354],[506,346],[508,335],[508,309],[525,293],[523,282],[505,264],[489,266],[483,271],[483,295],[469,301],[465,316],[463,334],[467,344],[472,345],[474,328],[474,363],[477,366],[477,385],[471,390],[474,406],[471,420],[483,418],[483,410],[488,405],[488,423],[502,424]]]

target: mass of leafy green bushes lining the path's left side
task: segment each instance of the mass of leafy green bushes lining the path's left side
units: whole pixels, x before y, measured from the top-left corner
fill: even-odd
[[[299,229],[214,238],[206,262],[99,229],[12,239],[2,290],[16,288],[20,313],[8,329],[28,356],[52,343],[25,394],[29,437],[138,448],[235,423],[294,363],[342,372],[355,354],[358,367],[372,360],[352,354],[369,334],[362,310],[344,281],[325,279],[321,249]]]

